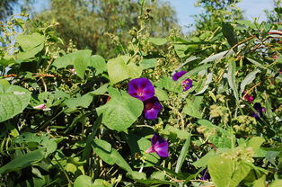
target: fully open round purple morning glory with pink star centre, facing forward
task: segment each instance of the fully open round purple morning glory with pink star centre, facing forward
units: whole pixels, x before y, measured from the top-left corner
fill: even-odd
[[[136,78],[128,83],[128,94],[145,101],[154,96],[154,86],[146,78]]]

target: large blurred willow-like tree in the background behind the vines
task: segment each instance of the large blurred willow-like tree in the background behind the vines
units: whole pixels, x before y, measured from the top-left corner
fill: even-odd
[[[126,43],[131,39],[128,31],[138,28],[138,12],[136,0],[51,0],[49,9],[36,17],[58,22],[59,37],[72,40],[77,49],[92,49],[111,58],[119,50],[111,42]],[[150,20],[150,34],[156,37],[167,36],[177,25],[175,11],[162,1],[148,3],[143,14]]]

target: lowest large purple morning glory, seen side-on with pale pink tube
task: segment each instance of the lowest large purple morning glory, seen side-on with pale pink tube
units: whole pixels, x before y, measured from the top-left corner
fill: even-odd
[[[151,138],[151,147],[149,147],[145,153],[156,153],[158,156],[167,157],[169,156],[169,143],[167,140],[162,138],[158,134],[154,134]]]

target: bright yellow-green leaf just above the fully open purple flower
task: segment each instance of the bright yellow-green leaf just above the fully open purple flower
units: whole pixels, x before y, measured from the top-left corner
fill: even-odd
[[[134,63],[129,63],[128,56],[112,58],[107,63],[110,83],[116,84],[128,78],[137,78],[142,74],[142,67],[137,67]]]

